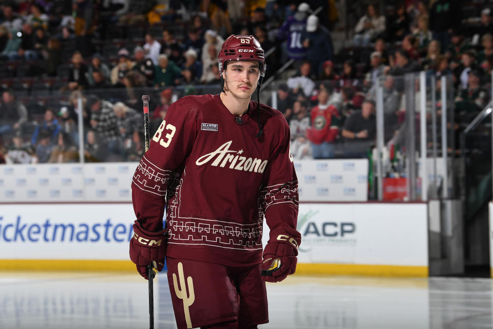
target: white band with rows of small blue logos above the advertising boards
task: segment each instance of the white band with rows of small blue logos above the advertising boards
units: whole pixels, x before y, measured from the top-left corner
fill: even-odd
[[[0,203],[127,202],[137,162],[0,166]],[[297,160],[300,201],[366,201],[368,160]]]

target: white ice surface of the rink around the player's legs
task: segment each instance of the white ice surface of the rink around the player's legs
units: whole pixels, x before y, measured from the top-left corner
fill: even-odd
[[[489,279],[291,276],[268,284],[259,328],[492,328]],[[148,328],[147,282],[137,274],[0,272],[0,328]],[[165,275],[156,328],[175,328]]]

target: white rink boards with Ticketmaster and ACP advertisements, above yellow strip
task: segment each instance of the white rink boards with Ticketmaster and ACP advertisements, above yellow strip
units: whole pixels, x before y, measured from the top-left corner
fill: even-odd
[[[3,205],[0,260],[128,260],[134,220],[130,203]],[[300,271],[302,264],[427,271],[426,204],[300,204],[297,229]],[[264,245],[268,239],[264,223]]]

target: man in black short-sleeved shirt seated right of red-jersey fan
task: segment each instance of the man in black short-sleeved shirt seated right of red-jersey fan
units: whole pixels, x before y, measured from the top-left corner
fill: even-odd
[[[375,103],[365,100],[362,110],[354,112],[346,120],[342,130],[342,136],[346,138],[344,149],[346,157],[364,158],[367,156],[376,133],[374,112]]]

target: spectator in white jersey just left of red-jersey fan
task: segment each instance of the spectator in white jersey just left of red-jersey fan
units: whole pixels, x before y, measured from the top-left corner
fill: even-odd
[[[307,108],[301,101],[293,103],[293,115],[289,120],[291,132],[291,153],[296,159],[311,158],[311,144],[306,137],[310,126],[310,117]]]

